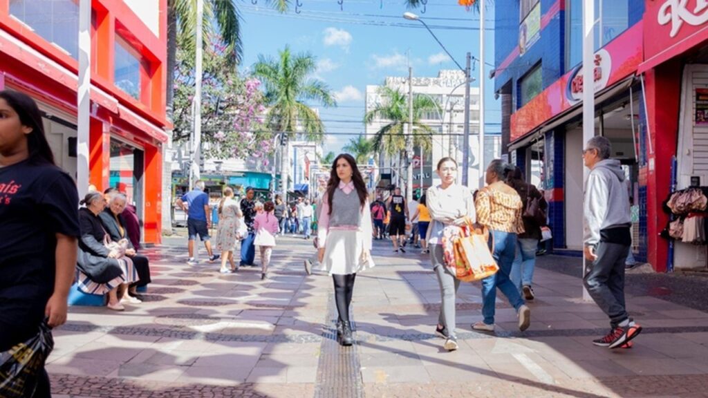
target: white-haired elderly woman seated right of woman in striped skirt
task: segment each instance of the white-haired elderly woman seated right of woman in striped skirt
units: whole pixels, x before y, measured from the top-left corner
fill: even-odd
[[[146,286],[151,282],[149,260],[147,257],[137,254],[135,246],[132,244],[130,237],[128,237],[127,224],[122,216],[122,212],[127,206],[125,193],[113,190],[109,191],[108,194],[105,195],[105,198],[108,206],[105,207],[105,210],[103,210],[98,217],[101,219],[103,228],[105,228],[105,231],[110,235],[111,241],[116,243],[125,241],[127,244],[125,256],[132,260],[140,280],[130,284],[127,292],[128,297],[126,298],[129,302],[137,304],[142,301],[142,296],[137,293],[137,288]]]

